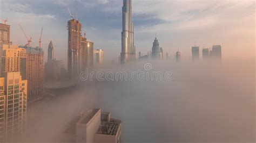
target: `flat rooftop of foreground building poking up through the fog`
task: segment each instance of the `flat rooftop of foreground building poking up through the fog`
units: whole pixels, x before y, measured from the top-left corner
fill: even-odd
[[[91,109],[85,115],[75,118],[65,131],[64,142],[77,143],[119,143],[122,121],[110,117],[110,112]]]

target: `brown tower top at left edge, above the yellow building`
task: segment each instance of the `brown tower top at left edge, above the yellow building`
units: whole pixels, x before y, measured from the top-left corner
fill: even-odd
[[[0,42],[3,44],[12,44],[10,41],[10,25],[0,23]]]

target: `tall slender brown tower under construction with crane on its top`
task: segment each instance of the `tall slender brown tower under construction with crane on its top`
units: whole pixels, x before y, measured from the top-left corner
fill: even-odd
[[[82,71],[82,24],[79,20],[71,19],[68,22],[68,75],[70,79],[78,78]]]

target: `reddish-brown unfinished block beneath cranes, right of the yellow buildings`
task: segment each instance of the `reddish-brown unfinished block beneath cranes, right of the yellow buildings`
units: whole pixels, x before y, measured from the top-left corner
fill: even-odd
[[[42,97],[44,80],[44,51],[39,47],[19,46],[26,51],[26,79],[28,100]]]

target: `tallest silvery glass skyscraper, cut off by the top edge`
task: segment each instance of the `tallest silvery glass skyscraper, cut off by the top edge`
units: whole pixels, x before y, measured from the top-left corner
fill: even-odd
[[[136,60],[132,23],[132,0],[124,0],[121,64]]]

